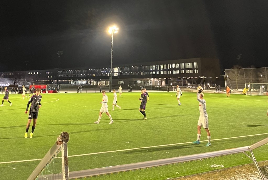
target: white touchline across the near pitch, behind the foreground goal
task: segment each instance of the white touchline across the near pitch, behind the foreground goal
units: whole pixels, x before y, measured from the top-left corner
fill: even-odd
[[[263,134],[253,134],[253,135],[246,135],[246,136],[237,136],[237,137],[232,137],[232,138],[211,139],[210,141],[218,141],[218,140],[223,140],[223,139],[244,138],[244,137],[249,137],[249,136],[258,136],[258,135],[265,135],[265,134],[268,134],[268,133],[263,133]],[[204,140],[204,141],[207,141],[207,140]],[[204,141],[200,141],[200,142],[204,142]],[[105,152],[98,152],[98,153],[79,154],[79,155],[73,155],[73,156],[68,156],[68,157],[87,156],[87,155],[92,155],[92,154],[113,153],[113,152],[120,152],[120,151],[129,151],[129,150],[144,149],[144,148],[152,148],[152,147],[172,146],[172,145],[180,145],[180,144],[188,144],[188,143],[192,143],[192,142],[182,142],[182,143],[176,143],[176,144],[165,144],[165,145],[158,145],[158,146],[137,147],[137,148],[132,148],[132,149],[121,149],[121,150],[105,151]],[[6,164],[6,163],[20,163],[20,162],[38,161],[38,160],[42,160],[42,159],[30,159],[30,160],[21,160],[21,161],[8,161],[8,162],[0,162],[0,164]]]

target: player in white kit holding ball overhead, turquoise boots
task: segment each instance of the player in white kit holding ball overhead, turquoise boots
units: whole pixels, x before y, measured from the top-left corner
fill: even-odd
[[[203,90],[199,89],[197,93],[197,100],[199,101],[199,111],[200,116],[197,123],[197,140],[194,141],[194,144],[200,144],[200,136],[201,136],[201,127],[207,131],[207,144],[206,146],[210,146],[210,131],[209,131],[209,118],[207,117],[207,109],[206,109],[206,100],[203,99],[204,94],[201,93]]]

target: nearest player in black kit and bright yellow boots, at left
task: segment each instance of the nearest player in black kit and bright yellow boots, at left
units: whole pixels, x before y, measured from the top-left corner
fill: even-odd
[[[32,132],[30,133],[30,138],[32,138],[32,136],[33,136],[33,131],[35,129],[37,116],[38,116],[38,110],[42,106],[41,103],[40,103],[41,99],[42,99],[42,96],[40,95],[40,92],[41,92],[41,89],[37,88],[35,90],[36,94],[33,95],[28,101],[25,114],[28,113],[28,108],[29,108],[30,103],[32,103],[32,104],[31,104],[30,111],[29,111],[28,123],[26,125],[26,132],[24,134],[24,138],[28,138],[27,133],[28,133],[28,130],[29,130],[29,127],[30,127],[32,119],[33,119],[33,125],[32,125]]]

